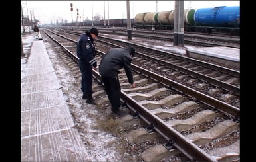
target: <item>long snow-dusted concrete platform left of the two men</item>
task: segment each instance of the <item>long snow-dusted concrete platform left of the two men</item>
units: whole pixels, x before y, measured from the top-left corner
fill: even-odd
[[[42,40],[21,73],[21,161],[92,161]]]

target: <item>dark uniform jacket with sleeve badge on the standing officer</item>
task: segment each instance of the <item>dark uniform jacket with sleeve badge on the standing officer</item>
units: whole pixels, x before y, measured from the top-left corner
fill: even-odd
[[[82,34],[78,40],[76,54],[82,62],[97,67],[96,50],[93,42],[94,40],[89,32]]]

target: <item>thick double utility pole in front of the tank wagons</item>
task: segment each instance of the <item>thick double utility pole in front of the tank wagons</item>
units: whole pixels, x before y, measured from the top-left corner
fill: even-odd
[[[175,1],[174,46],[184,45],[184,1]]]

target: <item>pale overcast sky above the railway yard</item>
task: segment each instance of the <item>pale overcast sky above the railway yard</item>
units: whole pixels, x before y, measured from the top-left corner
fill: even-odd
[[[73,4],[73,11],[70,10]],[[105,5],[104,5],[105,4]],[[157,4],[157,7],[156,7]],[[49,24],[58,20],[71,22],[75,20],[77,11],[82,19],[92,20],[93,15],[101,15],[105,19],[126,18],[126,1],[21,1],[23,15],[34,16],[41,24]],[[239,6],[240,1],[184,1],[184,9],[199,9],[216,6]],[[104,9],[105,8],[105,9]],[[108,10],[109,8],[109,10]],[[174,1],[130,1],[130,17],[138,13],[174,10]]]

